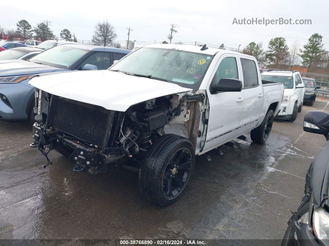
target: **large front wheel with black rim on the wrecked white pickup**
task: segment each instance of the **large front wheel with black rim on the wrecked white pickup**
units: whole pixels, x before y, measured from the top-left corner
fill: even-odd
[[[148,151],[139,170],[139,189],[151,202],[168,206],[186,190],[194,169],[195,150],[181,136],[166,134]]]

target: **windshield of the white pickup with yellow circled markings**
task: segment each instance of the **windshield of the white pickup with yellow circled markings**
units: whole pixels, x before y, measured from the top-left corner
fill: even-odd
[[[126,56],[110,70],[149,76],[198,90],[212,59],[212,55],[145,47]]]

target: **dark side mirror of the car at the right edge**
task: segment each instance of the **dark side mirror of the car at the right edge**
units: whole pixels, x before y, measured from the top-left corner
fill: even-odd
[[[326,112],[311,110],[304,116],[304,131],[317,134],[329,134],[329,115]]]

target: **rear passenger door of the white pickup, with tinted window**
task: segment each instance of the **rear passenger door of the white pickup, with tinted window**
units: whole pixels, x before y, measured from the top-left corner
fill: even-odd
[[[241,112],[239,133],[242,135],[253,129],[259,122],[262,110],[264,91],[255,58],[240,56],[243,81],[243,109]]]

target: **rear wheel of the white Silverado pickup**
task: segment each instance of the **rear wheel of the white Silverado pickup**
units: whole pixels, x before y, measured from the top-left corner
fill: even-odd
[[[273,110],[268,110],[262,124],[250,132],[250,138],[253,142],[257,144],[264,144],[267,141],[272,129],[273,119]]]

